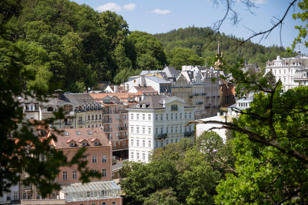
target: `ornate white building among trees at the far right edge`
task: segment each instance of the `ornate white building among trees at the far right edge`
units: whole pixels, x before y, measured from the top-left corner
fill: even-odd
[[[265,74],[272,69],[273,74],[276,77],[276,81],[279,79],[282,82],[283,90],[292,89],[298,86],[298,83],[294,81],[294,75],[296,71],[305,70],[308,68],[308,56],[280,58],[277,56],[276,60],[267,61]]]

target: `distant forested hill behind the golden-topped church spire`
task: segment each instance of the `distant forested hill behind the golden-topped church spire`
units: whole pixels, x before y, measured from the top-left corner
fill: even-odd
[[[207,28],[188,27],[185,29],[172,30],[168,33],[155,34],[154,36],[163,42],[165,49],[168,51],[175,48],[186,48],[196,52],[202,57],[207,65],[213,66],[213,56],[217,50],[217,42],[220,41],[222,57],[229,65],[235,65],[238,60],[247,59],[249,63],[258,63],[259,66],[265,66],[268,59],[276,59],[277,55],[283,57],[294,56],[286,52],[285,48],[273,45],[265,47],[252,42],[246,42],[236,49],[240,44],[241,38],[233,35],[217,33],[214,37],[213,31]],[[167,53],[168,53],[167,51]]]

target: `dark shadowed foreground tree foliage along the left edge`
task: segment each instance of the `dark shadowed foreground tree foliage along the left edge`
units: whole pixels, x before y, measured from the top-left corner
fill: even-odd
[[[3,24],[0,24],[3,28]],[[6,39],[6,30],[0,30],[0,41],[8,41]],[[24,45],[24,44],[21,44]],[[78,154],[71,161],[66,161],[66,157],[62,152],[56,152],[50,148],[50,141],[54,136],[40,140],[34,135],[32,124],[25,122],[23,116],[23,108],[18,101],[19,96],[36,97],[38,100],[45,100],[46,81],[50,77],[48,64],[44,66],[39,63],[34,65],[24,65],[24,59],[27,59],[25,52],[17,46],[14,47],[13,53],[6,53],[8,64],[5,69],[0,70],[0,195],[9,191],[10,186],[19,183],[19,173],[27,172],[29,177],[23,180],[23,184],[28,185],[40,184],[40,193],[45,197],[54,189],[60,189],[58,184],[52,183],[58,174],[59,166],[70,166],[77,163],[79,171],[84,182],[89,181],[90,176],[100,177],[100,174],[90,172],[82,172],[82,168],[86,167],[87,162],[83,162],[82,155],[85,149],[79,150]],[[40,58],[39,58],[40,59]],[[40,60],[37,60],[40,62]],[[46,76],[49,75],[49,76]],[[16,77],[18,76],[18,78]],[[31,92],[23,89],[22,82],[29,82]],[[41,84],[44,83],[44,84]],[[55,114],[56,119],[63,119],[64,115],[61,110]],[[52,123],[53,120],[46,120],[43,123],[36,122],[35,125],[45,127],[46,124]],[[13,136],[12,136],[13,135]],[[10,139],[14,137],[15,139]],[[33,146],[31,155],[28,156],[24,152],[27,146]],[[50,155],[49,153],[52,153]],[[39,160],[40,155],[46,155],[46,161]]]

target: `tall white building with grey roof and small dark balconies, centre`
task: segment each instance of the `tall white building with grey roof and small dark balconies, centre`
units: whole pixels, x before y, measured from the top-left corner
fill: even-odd
[[[148,96],[127,110],[129,161],[149,162],[156,148],[193,137],[193,125],[185,125],[193,121],[195,107],[179,97]]]

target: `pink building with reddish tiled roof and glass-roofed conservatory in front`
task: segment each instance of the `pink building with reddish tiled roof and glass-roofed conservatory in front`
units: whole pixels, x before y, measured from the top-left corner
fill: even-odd
[[[112,143],[100,128],[80,128],[51,131],[57,141],[51,143],[58,151],[62,151],[70,161],[82,147],[87,150],[82,160],[87,160],[87,169],[99,172],[102,177],[90,178],[89,183],[81,183],[78,165],[59,167],[57,183],[61,185],[60,198],[66,204],[121,205],[120,187],[112,180]],[[82,170],[83,171],[83,170]]]

